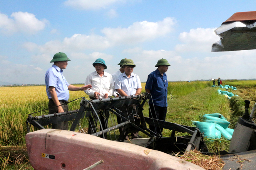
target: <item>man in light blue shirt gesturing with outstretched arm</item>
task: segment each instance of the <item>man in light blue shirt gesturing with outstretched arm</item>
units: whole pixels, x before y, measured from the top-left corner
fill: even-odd
[[[68,111],[69,90],[79,91],[92,88],[90,84],[76,87],[67,82],[63,73],[70,59],[65,53],[56,53],[50,63],[54,63],[45,73],[46,93],[49,99],[49,114]],[[52,129],[68,130],[69,122],[52,124]]]

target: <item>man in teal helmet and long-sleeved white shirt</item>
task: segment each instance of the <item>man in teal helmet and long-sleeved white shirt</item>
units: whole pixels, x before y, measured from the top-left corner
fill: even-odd
[[[96,71],[90,73],[85,80],[85,84],[92,84],[92,88],[86,89],[84,92],[90,97],[90,99],[109,98],[114,92],[114,81],[111,74],[104,71],[104,69],[107,69],[104,59],[96,59],[96,61],[92,63],[92,66],[95,67]],[[104,111],[97,111],[97,113],[99,114],[103,130],[108,128],[107,123],[109,119],[109,111],[106,109]],[[88,134],[96,133],[96,126],[97,117],[94,116],[94,113],[92,112],[89,117]],[[100,130],[102,130],[101,127]],[[100,137],[103,138],[103,135],[100,135]],[[106,139],[107,136],[104,135],[104,137]]]

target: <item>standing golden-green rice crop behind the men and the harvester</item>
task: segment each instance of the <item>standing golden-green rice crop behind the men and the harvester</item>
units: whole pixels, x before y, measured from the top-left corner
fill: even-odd
[[[142,83],[142,92],[145,92],[145,85],[146,83]],[[169,82],[168,94],[182,96],[206,86],[208,86],[207,82],[199,81],[191,83]],[[0,94],[0,144],[3,146],[24,145],[28,114],[48,109],[45,86],[0,87]],[[84,91],[70,91],[69,101],[80,97],[89,98]],[[80,99],[70,102],[69,110],[78,109],[79,102]],[[147,112],[147,109],[145,109],[145,112]],[[39,116],[42,114],[48,114],[48,111],[33,115]],[[87,121],[84,120],[83,123],[87,124]],[[33,130],[33,127],[31,128]]]

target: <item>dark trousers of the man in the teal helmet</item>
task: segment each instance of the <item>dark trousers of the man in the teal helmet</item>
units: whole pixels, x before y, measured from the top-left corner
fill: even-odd
[[[96,111],[98,113],[98,116],[100,118],[100,122],[102,124],[102,128],[107,129],[108,128],[108,122],[109,122],[109,110],[104,110],[104,111]],[[92,112],[92,115],[95,113]],[[96,133],[96,126],[97,126],[97,116],[89,116],[89,127],[88,127],[88,134],[94,134]],[[100,130],[101,127],[100,127]],[[103,138],[103,135],[100,135],[101,138]],[[107,134],[104,134],[105,139],[107,139]]]

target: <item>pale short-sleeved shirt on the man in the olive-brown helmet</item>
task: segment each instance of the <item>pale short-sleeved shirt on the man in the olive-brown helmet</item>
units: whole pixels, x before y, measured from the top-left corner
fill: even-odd
[[[132,73],[130,78],[125,73],[120,74],[115,81],[115,89],[122,89],[127,96],[136,94],[137,89],[141,88],[139,76]]]

